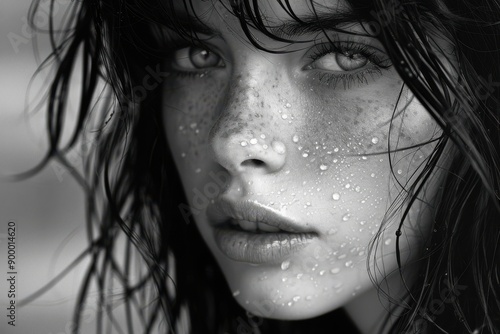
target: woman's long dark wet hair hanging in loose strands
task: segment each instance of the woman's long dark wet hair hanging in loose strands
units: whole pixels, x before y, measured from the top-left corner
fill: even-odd
[[[301,22],[288,0],[278,2]],[[436,211],[432,233],[414,260],[418,279],[407,285],[404,301],[394,302],[391,313],[397,320],[388,317],[386,326],[390,333],[498,333],[500,1],[346,2],[348,13],[331,13],[318,23],[331,29],[332,22],[357,21],[367,34],[376,35],[404,85],[442,129],[420,174],[401,185],[401,201],[391,208],[403,210],[395,231],[398,259],[408,210],[440,168],[440,159],[452,155],[443,194],[431,203]],[[33,17],[40,4],[34,2]],[[190,0],[182,4],[192,12]],[[224,4],[255,47],[265,50],[255,30],[287,42],[271,32],[258,1]],[[161,90],[166,75],[161,63],[176,46],[168,41],[159,45],[152,27],[165,26],[185,41],[200,43],[192,27],[202,18],[176,15],[173,0],[73,1],[68,10],[67,29],[51,25],[54,51],[47,62],[56,71],[47,96],[50,148],[32,172],[51,159],[73,170],[66,154],[81,136],[93,134],[85,140],[92,145],[84,174],[73,170],[87,193],[89,246],[82,257],[90,258],[75,308],[76,327],[94,297],[101,305],[98,332],[109,325],[124,327],[124,332],[139,326],[149,333],[160,326],[175,333],[224,333],[238,330],[241,320],[249,333],[297,331],[294,322],[257,321],[236,304],[194,224],[186,223],[180,210],[187,201],[160,112],[161,95],[169,93]],[[440,50],[438,39],[452,50]],[[79,57],[81,64],[76,63]],[[146,90],[144,78],[153,73],[158,84]],[[69,86],[77,75],[78,119],[70,142],[63,145]],[[107,98],[94,104],[102,96]],[[377,241],[371,243],[372,254]],[[401,271],[404,266],[399,261]],[[115,320],[116,303],[126,324]]]

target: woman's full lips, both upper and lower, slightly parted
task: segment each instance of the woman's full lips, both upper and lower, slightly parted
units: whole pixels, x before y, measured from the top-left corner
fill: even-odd
[[[218,199],[207,208],[207,216],[214,228],[219,249],[230,259],[239,262],[278,263],[318,237],[314,231],[304,229],[293,220],[255,201]],[[245,231],[234,224],[243,220],[267,224],[280,231]]]

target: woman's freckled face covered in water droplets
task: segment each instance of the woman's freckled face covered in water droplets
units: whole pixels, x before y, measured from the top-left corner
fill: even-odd
[[[386,212],[401,204],[439,129],[375,37],[302,29],[278,2],[259,3],[266,23],[282,28],[273,32],[301,42],[252,30],[285,52],[259,50],[227,3],[193,1],[210,31],[167,59],[164,127],[188,199],[179,209],[238,302],[269,318],[309,318],[372,286],[368,249],[381,224],[371,260],[382,273],[397,268],[401,210]],[[305,21],[314,15],[309,0],[290,3]],[[325,1],[316,10],[347,7]],[[422,202],[436,191],[428,186],[410,211],[403,258],[421,246],[431,216]]]

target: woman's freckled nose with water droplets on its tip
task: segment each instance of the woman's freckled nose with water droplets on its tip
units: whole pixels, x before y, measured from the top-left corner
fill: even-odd
[[[276,173],[284,167],[287,152],[272,116],[272,94],[256,79],[265,77],[262,71],[246,77],[236,78],[228,88],[210,132],[211,149],[216,162],[231,174]]]

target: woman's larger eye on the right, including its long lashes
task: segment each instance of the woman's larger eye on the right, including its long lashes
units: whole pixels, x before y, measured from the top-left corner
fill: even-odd
[[[368,83],[369,77],[381,75],[392,66],[389,57],[380,49],[353,41],[328,42],[315,45],[309,52],[304,70],[312,71],[321,84],[345,89],[353,84]]]

